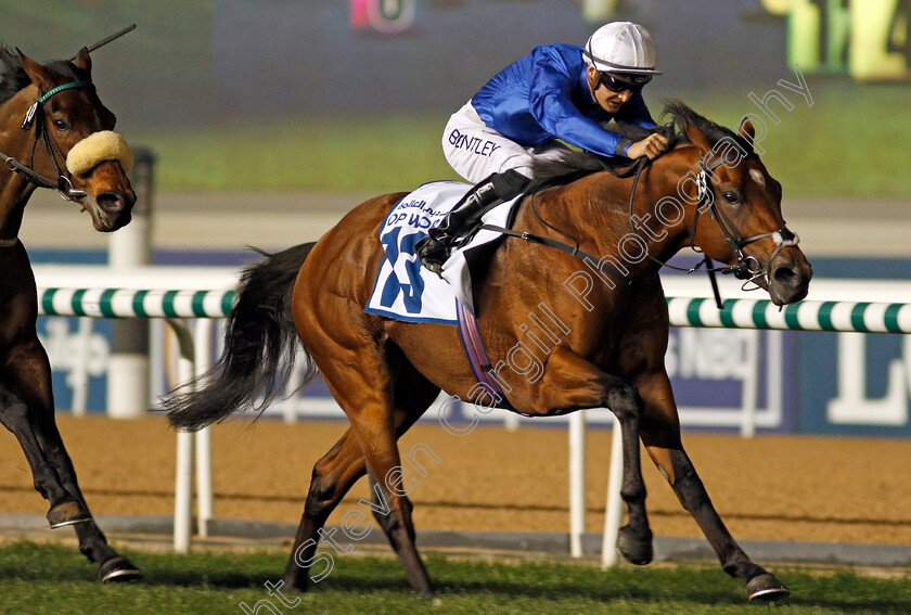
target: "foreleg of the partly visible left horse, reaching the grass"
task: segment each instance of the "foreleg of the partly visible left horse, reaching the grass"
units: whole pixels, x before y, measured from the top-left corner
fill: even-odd
[[[7,368],[4,380],[15,392],[16,397],[22,399],[22,406],[25,408],[24,419],[14,417],[11,421],[13,425],[18,425],[20,433],[23,433],[24,437],[20,437],[20,434],[9,424],[7,426],[20,437],[27,458],[29,450],[26,448],[26,441],[29,443],[29,449],[33,446],[37,447],[40,453],[39,462],[43,460],[43,463],[50,466],[44,472],[49,472],[53,477],[51,487],[55,486],[60,491],[55,499],[46,496],[51,503],[51,510],[48,512],[51,527],[74,525],[79,539],[79,551],[90,562],[99,564],[99,578],[102,581],[141,578],[142,573],[107,544],[107,539],[89,512],[76,478],[73,461],[66,452],[56,426],[51,370],[44,349],[36,339],[33,344],[22,347],[14,357],[15,359]],[[27,423],[28,427],[22,428],[23,423]],[[31,456],[35,456],[34,451]],[[33,465],[33,472],[35,472],[35,465]],[[35,476],[37,487],[38,474],[36,473]],[[44,495],[43,491],[42,495]]]

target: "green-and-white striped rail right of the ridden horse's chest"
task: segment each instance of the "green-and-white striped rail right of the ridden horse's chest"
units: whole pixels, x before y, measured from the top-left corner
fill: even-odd
[[[911,333],[911,304],[805,300],[780,309],[769,299],[727,299],[719,310],[715,299],[668,297],[667,305],[673,326]]]

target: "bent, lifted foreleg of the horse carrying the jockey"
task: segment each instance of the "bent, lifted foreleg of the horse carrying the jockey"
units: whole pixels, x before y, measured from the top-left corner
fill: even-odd
[[[627,525],[620,528],[617,549],[631,564],[649,564],[654,553],[639,451],[643,405],[636,386],[603,372],[561,346],[548,358],[536,392],[536,414],[561,414],[579,408],[606,407],[617,417],[624,458],[620,496],[628,514]]]

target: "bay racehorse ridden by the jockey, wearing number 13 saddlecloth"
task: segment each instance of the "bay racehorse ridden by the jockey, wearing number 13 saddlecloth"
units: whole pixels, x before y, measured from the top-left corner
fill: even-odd
[[[669,104],[668,112],[677,127],[672,150],[634,178],[616,177],[586,154],[535,169],[534,188],[513,223],[529,241],[506,239],[472,282],[478,329],[511,409],[550,417],[606,407],[619,419],[628,522],[617,547],[628,561],[647,564],[653,555],[641,439],[723,569],[745,582],[750,599],[782,597],[787,588],[731,537],[681,444],[664,363],[668,311],[658,270],[692,245],[784,305],[806,296],[811,269],[784,225],[781,185],[752,148],[749,121],[734,132],[683,103]],[[431,594],[397,439],[440,389],[490,405],[457,328],[364,312],[384,257],[377,232],[402,196],[368,201],[318,242],[247,268],[214,380],[166,401],[171,423],[194,430],[238,409],[261,409],[284,381],[281,359],[291,356],[297,337],[303,342],[350,425],[313,467],[283,579],[300,590],[326,517],[368,474],[375,516],[408,580]],[[555,242],[575,255],[554,249]],[[579,258],[592,254],[600,258]],[[540,305],[559,318],[564,335],[538,357],[536,377],[524,377],[528,361],[515,360],[515,349],[540,348],[528,339],[526,324]]]

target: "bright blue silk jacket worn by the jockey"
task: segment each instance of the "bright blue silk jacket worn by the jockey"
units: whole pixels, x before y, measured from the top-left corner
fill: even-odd
[[[589,91],[582,49],[572,44],[536,47],[487,81],[472,106],[489,128],[525,148],[560,139],[602,156],[626,154],[630,143],[624,140],[618,152],[621,137],[601,124],[655,126],[641,92],[616,114],[601,108]]]

